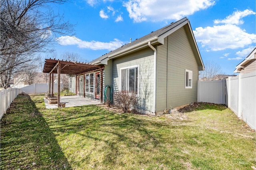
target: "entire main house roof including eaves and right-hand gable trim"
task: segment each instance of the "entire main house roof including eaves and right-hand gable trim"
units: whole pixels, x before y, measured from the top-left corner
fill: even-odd
[[[183,27],[184,25],[188,24],[192,39],[194,41],[196,53],[198,54],[198,57],[200,59],[200,63],[202,64],[202,70],[204,69],[204,64],[202,62],[202,58],[200,55],[200,52],[198,50],[198,46],[196,44],[194,34],[192,32],[190,22],[188,18],[182,18],[181,20],[178,20],[176,22],[172,22],[168,26],[165,26],[163,28],[160,28],[159,30],[156,30],[154,32],[151,32],[150,34],[143,36],[142,38],[136,39],[133,42],[130,42],[128,44],[123,45],[122,47],[119,47],[118,49],[115,49],[114,51],[110,51],[109,53],[106,53],[102,55],[101,57],[98,57],[97,59],[94,59],[93,61],[90,61],[89,63],[92,64],[106,64],[104,60],[108,60],[114,57],[118,57],[120,55],[123,55],[125,53],[134,51],[136,49],[145,47],[148,45],[148,42],[151,42],[153,45],[156,43],[161,43],[164,44],[164,38],[167,37],[168,35],[172,34],[179,28]]]

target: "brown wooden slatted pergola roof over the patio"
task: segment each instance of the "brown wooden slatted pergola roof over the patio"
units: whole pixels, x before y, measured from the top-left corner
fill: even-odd
[[[61,74],[78,75],[101,68],[99,65],[92,65],[88,63],[75,63],[59,59],[45,59],[43,73],[58,73],[56,69],[58,63],[60,64]]]

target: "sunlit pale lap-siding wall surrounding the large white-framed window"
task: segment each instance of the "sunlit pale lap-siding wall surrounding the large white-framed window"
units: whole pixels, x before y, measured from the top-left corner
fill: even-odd
[[[113,91],[120,90],[120,69],[134,65],[140,65],[139,107],[145,111],[153,112],[154,51],[151,48],[148,47],[138,52],[113,59]]]

